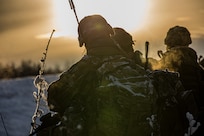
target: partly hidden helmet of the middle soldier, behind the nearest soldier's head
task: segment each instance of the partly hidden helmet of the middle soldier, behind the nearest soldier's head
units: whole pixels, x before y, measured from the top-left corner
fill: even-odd
[[[132,36],[125,31],[123,28],[115,27],[113,28],[114,35],[112,38],[120,45],[120,47],[126,52],[133,52],[134,41]]]

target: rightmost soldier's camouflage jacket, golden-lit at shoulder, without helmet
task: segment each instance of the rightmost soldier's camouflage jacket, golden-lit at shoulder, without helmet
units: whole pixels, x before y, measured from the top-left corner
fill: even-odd
[[[168,69],[179,73],[180,80],[186,90],[194,90],[200,105],[202,91],[202,71],[197,62],[196,52],[189,47],[174,47],[164,53],[159,61],[160,69]],[[203,97],[203,96],[202,96]]]

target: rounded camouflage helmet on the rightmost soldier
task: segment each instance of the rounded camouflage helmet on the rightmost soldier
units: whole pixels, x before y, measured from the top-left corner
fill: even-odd
[[[167,32],[164,43],[167,45],[167,48],[189,46],[192,43],[190,32],[185,27],[174,26]]]

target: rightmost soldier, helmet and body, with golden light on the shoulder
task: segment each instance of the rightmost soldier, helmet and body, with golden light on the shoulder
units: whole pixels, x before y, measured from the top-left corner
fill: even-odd
[[[160,52],[162,58],[158,62],[157,69],[178,72],[185,90],[192,90],[197,106],[202,111],[204,106],[203,69],[197,62],[196,51],[189,47],[192,43],[190,32],[183,26],[174,26],[167,32],[164,43],[167,45],[167,51]],[[198,121],[203,122],[203,119],[199,118]]]

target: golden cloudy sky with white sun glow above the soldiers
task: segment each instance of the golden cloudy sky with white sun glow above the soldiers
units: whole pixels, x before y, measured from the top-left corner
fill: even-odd
[[[66,66],[78,61],[85,49],[78,46],[77,21],[68,0],[0,0],[0,63],[43,57],[51,32],[47,66]],[[169,28],[186,27],[190,45],[204,55],[203,0],[73,0],[78,19],[102,15],[112,27],[122,27],[136,41],[134,49],[144,53],[150,42],[149,56],[165,51],[164,38]]]

